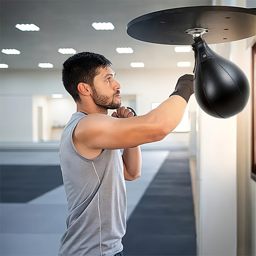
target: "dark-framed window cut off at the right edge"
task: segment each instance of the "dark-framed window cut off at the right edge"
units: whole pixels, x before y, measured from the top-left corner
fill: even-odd
[[[256,181],[256,43],[252,46],[252,174]]]

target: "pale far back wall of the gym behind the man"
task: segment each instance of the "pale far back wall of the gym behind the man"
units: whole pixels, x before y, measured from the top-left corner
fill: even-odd
[[[166,100],[178,78],[192,71],[193,67],[175,70],[115,69],[116,80],[121,84],[120,91],[124,95],[123,104],[132,102],[127,97],[133,95],[138,115],[148,113],[152,103]],[[76,104],[62,85],[60,70],[1,70],[0,83],[1,141],[54,140],[61,131],[58,125],[65,125],[76,111]],[[63,99],[52,99],[52,94],[62,94]],[[42,138],[38,134],[40,111],[43,119]],[[60,124],[54,124],[54,116],[58,116],[57,119],[61,116]],[[52,137],[53,126],[56,129]],[[189,132],[172,133],[162,143],[168,146],[170,142],[171,146],[188,147]]]

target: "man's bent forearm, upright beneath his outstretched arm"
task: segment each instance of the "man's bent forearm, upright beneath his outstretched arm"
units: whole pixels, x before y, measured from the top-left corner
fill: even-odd
[[[137,176],[141,171],[142,164],[140,146],[135,148],[124,148],[123,161],[128,174]]]

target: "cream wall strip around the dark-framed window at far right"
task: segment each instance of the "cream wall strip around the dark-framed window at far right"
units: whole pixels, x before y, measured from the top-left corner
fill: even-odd
[[[234,42],[232,61],[251,82],[244,111],[237,115],[237,255],[256,255],[256,182],[250,177],[252,163],[252,44],[256,38]],[[237,54],[244,49],[241,54]]]

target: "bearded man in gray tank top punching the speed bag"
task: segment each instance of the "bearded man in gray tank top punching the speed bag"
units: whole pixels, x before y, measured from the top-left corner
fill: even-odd
[[[140,145],[172,132],[194,93],[193,76],[184,75],[156,109],[133,116],[121,107],[120,84],[110,65],[104,56],[91,52],[77,53],[63,64],[62,82],[77,112],[60,141],[69,213],[59,255],[123,255],[125,180],[140,177]],[[108,109],[116,112],[109,116]]]

